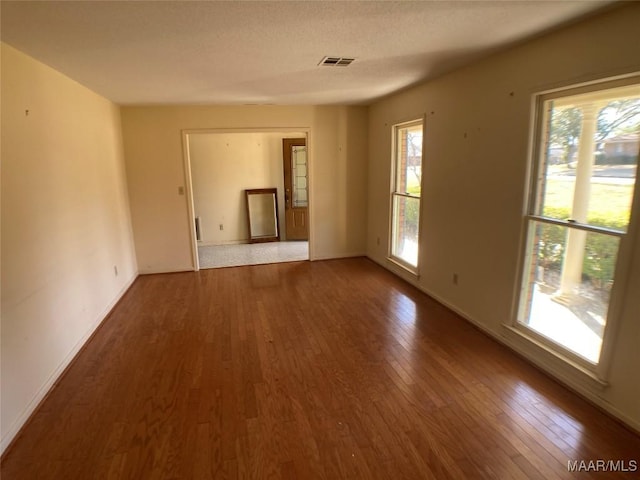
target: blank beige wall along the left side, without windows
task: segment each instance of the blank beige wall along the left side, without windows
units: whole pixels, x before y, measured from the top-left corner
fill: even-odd
[[[136,274],[119,108],[2,44],[2,450]]]

